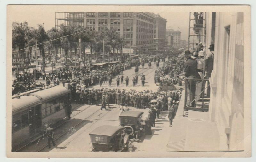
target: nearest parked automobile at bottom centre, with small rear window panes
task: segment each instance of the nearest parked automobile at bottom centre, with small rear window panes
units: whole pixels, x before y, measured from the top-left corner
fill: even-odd
[[[124,150],[132,151],[133,141],[130,141],[129,135],[125,132],[125,127],[103,125],[89,133],[92,152],[121,152]]]

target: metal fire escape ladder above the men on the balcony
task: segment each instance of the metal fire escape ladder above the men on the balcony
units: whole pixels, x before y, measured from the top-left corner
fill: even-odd
[[[205,46],[205,15],[206,12],[189,12],[188,50],[194,51],[196,43]]]

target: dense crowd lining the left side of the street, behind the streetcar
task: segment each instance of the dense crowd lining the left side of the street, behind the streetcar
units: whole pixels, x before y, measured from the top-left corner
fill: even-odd
[[[30,70],[24,69],[23,72],[15,70],[15,79],[12,84],[12,95],[26,92],[36,87],[44,86],[43,83],[36,83],[35,80],[43,79],[46,81],[46,85],[59,84],[60,81],[63,83],[70,82],[71,79],[83,81],[86,87],[100,83],[102,85],[105,82],[112,82],[112,77],[118,74],[122,74],[124,70],[130,69],[133,66],[144,65],[152,61],[157,62],[157,59],[165,58],[165,54],[154,54],[154,55],[140,55],[140,59],[126,59],[124,62],[109,65],[108,67],[83,67],[80,68],[67,68],[53,70],[52,73],[45,73],[42,70],[34,71],[31,73]],[[36,76],[34,76],[36,74]],[[32,85],[32,86],[31,86]]]

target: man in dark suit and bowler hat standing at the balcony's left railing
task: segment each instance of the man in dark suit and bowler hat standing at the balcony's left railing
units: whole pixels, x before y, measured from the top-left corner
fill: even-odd
[[[201,77],[197,72],[197,61],[191,58],[190,51],[186,50],[184,55],[187,59],[184,64],[184,73],[187,77],[190,104],[191,107],[195,107],[196,80],[194,79],[200,79]]]

